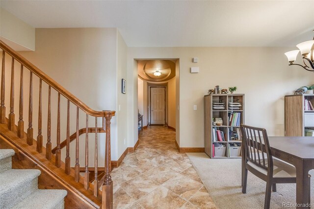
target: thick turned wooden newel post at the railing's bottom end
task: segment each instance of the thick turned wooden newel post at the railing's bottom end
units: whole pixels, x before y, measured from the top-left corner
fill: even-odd
[[[113,185],[110,176],[111,172],[111,151],[110,151],[110,120],[112,117],[111,111],[105,112],[105,130],[106,130],[106,147],[105,147],[105,181],[103,184],[103,200],[102,209],[112,209],[113,202]]]

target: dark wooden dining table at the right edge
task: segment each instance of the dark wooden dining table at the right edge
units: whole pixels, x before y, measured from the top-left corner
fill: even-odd
[[[309,209],[311,203],[309,171],[314,169],[314,137],[269,136],[268,140],[272,156],[296,168],[296,208]]]

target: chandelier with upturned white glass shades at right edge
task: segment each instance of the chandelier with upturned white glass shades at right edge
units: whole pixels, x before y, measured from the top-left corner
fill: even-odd
[[[285,53],[286,56],[288,57],[289,65],[299,65],[307,71],[314,72],[314,59],[313,59],[314,37],[313,37],[312,41],[302,42],[302,43],[296,45],[296,47],[299,48],[299,50],[293,50],[293,51]],[[301,54],[303,56],[302,58],[303,58],[304,66],[300,65],[300,64],[294,64],[293,63],[296,60],[296,57],[297,57],[299,52],[301,52]],[[310,68],[310,66],[308,66],[306,64],[306,62],[310,63],[310,66],[312,67],[313,70]]]

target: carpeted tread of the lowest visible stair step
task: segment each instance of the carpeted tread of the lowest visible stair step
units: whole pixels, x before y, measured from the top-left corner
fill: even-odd
[[[62,189],[37,189],[12,209],[59,209],[66,195]]]

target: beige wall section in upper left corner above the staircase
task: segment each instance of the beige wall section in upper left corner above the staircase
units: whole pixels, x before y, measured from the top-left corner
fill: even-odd
[[[0,36],[14,50],[35,50],[35,28],[2,8],[0,8]]]

